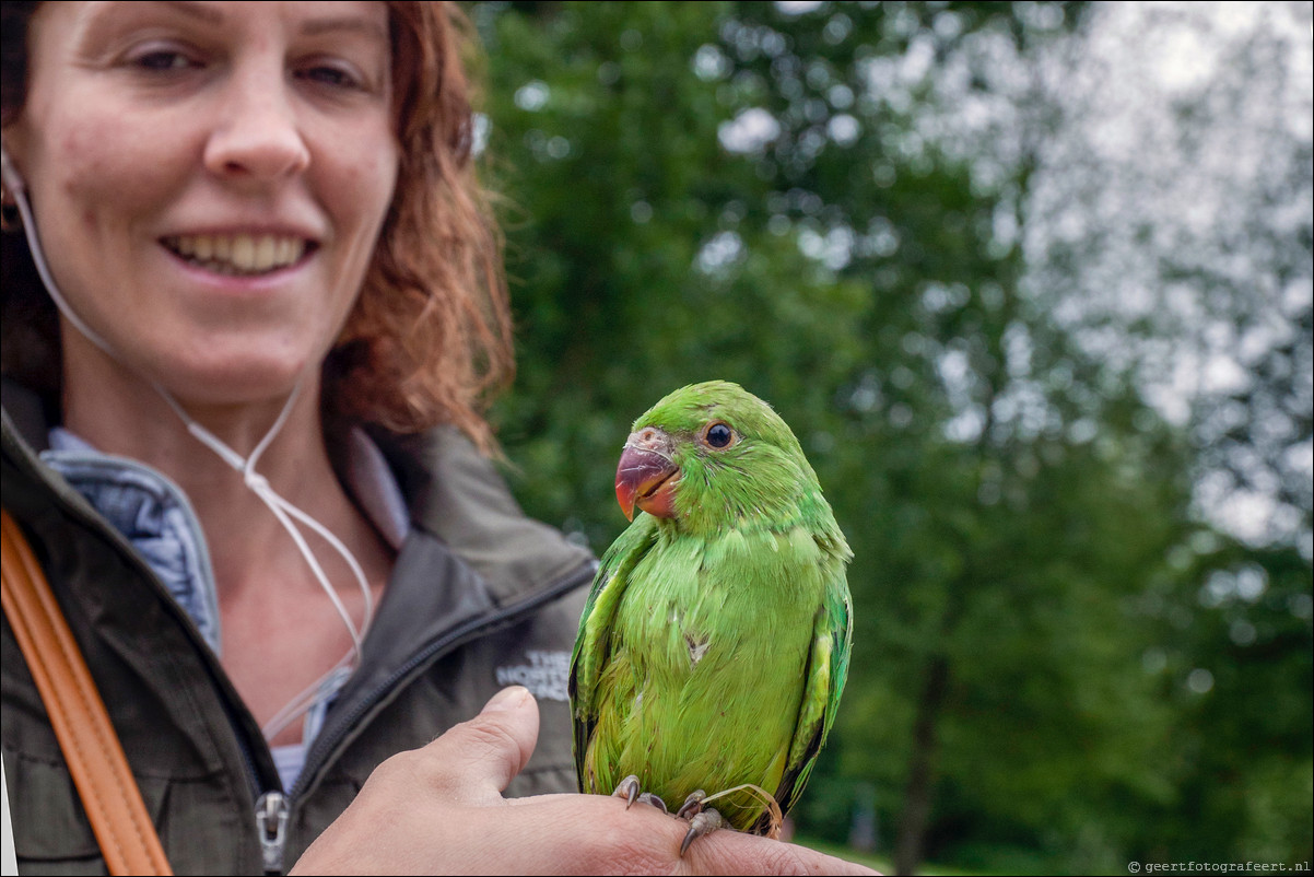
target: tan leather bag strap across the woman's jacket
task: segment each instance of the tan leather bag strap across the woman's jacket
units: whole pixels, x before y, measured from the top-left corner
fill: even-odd
[[[105,865],[112,874],[171,874],[124,747],[46,576],[8,511],[0,525],[4,614],[37,681]]]

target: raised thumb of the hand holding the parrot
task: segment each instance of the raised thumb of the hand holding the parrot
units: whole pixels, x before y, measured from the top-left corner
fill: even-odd
[[[502,790],[524,769],[537,738],[539,705],[527,688],[512,685],[422,752],[439,765],[439,784],[449,795],[487,805],[499,801]]]

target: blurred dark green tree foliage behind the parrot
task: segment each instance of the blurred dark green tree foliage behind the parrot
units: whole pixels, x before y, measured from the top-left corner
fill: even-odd
[[[1028,283],[1042,101],[955,128],[1083,7],[470,14],[520,363],[494,415],[527,510],[600,552],[632,419],[720,377],[792,426],[854,548],[800,831],[848,840],[874,788],[901,868],[1307,860],[1310,561],[1197,521],[1200,446]]]

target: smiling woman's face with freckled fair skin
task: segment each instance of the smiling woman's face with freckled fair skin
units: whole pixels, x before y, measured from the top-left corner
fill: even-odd
[[[74,310],[181,400],[285,393],[392,201],[385,5],[50,3],[29,53],[5,149]],[[70,331],[68,380],[106,366]]]

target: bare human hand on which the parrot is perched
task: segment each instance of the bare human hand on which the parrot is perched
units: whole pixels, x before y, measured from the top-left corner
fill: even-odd
[[[469,722],[371,774],[292,874],[874,874],[805,847],[716,831],[679,857],[687,824],[606,795],[502,797],[539,736],[530,692],[499,692]]]

